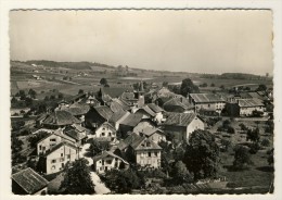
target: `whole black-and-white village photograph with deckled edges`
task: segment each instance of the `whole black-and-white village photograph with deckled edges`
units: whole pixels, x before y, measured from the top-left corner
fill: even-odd
[[[12,9],[8,35],[12,196],[279,189],[272,10]]]

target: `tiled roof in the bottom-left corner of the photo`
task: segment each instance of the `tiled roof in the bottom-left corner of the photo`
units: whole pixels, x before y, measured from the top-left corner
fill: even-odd
[[[29,195],[43,189],[49,183],[46,178],[29,167],[13,174],[12,179]]]

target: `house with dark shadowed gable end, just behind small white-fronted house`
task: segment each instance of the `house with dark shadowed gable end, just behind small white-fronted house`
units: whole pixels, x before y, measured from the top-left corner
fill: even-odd
[[[86,114],[86,126],[97,128],[104,122],[108,122],[114,112],[107,105],[91,108]]]

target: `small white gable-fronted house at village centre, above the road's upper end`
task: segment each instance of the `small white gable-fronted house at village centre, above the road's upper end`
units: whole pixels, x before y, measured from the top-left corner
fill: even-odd
[[[116,129],[108,122],[104,122],[95,129],[94,138],[110,138],[113,141],[116,139]]]

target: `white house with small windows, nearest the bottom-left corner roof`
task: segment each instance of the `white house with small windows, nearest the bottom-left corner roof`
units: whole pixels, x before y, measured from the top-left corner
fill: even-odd
[[[54,146],[48,153],[39,159],[42,163],[42,172],[53,174],[62,171],[67,162],[78,159],[78,148],[69,142],[61,142]]]

